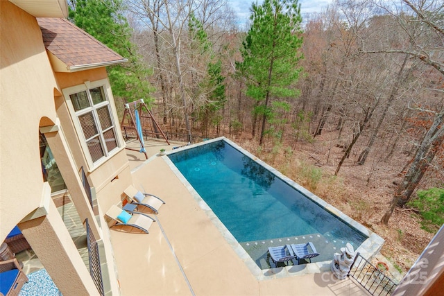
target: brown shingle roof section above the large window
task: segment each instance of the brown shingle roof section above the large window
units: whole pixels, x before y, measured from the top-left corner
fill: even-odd
[[[37,22],[42,31],[46,50],[65,63],[68,70],[126,62],[121,55],[67,19],[37,17]]]

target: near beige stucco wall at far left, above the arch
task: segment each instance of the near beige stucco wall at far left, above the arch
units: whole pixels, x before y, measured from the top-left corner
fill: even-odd
[[[0,1],[0,241],[33,209],[43,188],[42,117],[56,122],[56,80],[35,17]]]

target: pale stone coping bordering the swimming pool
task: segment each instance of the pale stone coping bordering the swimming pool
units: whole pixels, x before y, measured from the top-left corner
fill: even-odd
[[[221,220],[214,214],[212,209],[208,206],[208,204],[203,200],[200,195],[197,193],[197,191],[191,186],[191,184],[185,179],[185,177],[180,173],[178,168],[171,162],[168,155],[177,153],[182,150],[188,150],[190,148],[195,148],[198,146],[203,146],[207,143],[213,143],[216,141],[225,141],[233,148],[239,150],[241,153],[244,153],[244,155],[250,157],[250,159],[253,159],[253,161],[257,162],[257,164],[264,166],[264,168],[268,169],[268,171],[271,171],[276,177],[279,177],[282,181],[286,182],[290,186],[293,186],[296,190],[300,191],[300,193],[307,196],[307,198],[311,199],[313,202],[316,202],[319,204],[319,206],[323,207],[323,209],[329,211],[331,214],[338,216],[343,222],[350,225],[350,227],[357,230],[357,232],[360,232],[361,234],[364,234],[364,236],[367,236],[368,238],[366,241],[361,243],[361,245],[355,250],[356,252],[359,252],[361,256],[364,256],[367,260],[371,260],[374,256],[376,256],[377,253],[379,253],[379,250],[381,250],[382,245],[384,244],[384,239],[374,232],[370,231],[367,227],[364,225],[361,225],[357,221],[353,220],[349,216],[343,214],[339,209],[336,209],[331,204],[328,204],[321,198],[319,198],[314,193],[311,193],[304,187],[300,186],[298,183],[291,180],[289,177],[283,175],[278,170],[273,168],[272,166],[266,164],[258,157],[255,157],[255,155],[249,153],[244,148],[241,148],[241,146],[237,145],[233,141],[230,141],[229,139],[225,137],[218,137],[215,139],[210,139],[207,141],[203,141],[200,143],[192,144],[191,146],[186,146],[183,148],[178,148],[176,150],[168,151],[165,155],[161,156],[162,159],[167,163],[171,171],[178,177],[180,182],[185,185],[191,196],[193,196],[194,200],[198,203],[199,207],[205,211],[205,214],[212,220],[213,225],[221,232],[222,236],[225,238],[225,241],[228,242],[230,247],[236,252],[236,254],[239,256],[239,258],[244,261],[247,268],[250,270],[250,272],[253,274],[253,276],[256,277],[257,280],[263,281],[268,279],[278,279],[278,278],[284,278],[284,277],[292,277],[292,276],[298,276],[298,275],[307,275],[312,273],[320,273],[320,272],[327,272],[330,271],[330,264],[332,260],[329,261],[321,261],[321,262],[314,262],[314,263],[307,263],[303,265],[291,265],[291,266],[285,266],[281,268],[268,268],[268,269],[260,269],[259,266],[255,263],[255,261],[250,257],[250,255],[244,250],[244,247],[242,247],[239,242],[234,238],[234,236],[231,234],[231,232],[223,225]],[[151,157],[150,159],[147,159],[146,162],[151,162],[153,158],[157,156]],[[136,169],[137,170],[137,169]]]

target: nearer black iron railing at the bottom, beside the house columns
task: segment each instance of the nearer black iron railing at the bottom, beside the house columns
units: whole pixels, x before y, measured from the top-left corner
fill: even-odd
[[[88,246],[89,274],[99,290],[100,295],[104,296],[102,268],[100,264],[99,245],[96,238],[89,227],[88,219],[85,220],[86,225],[86,241]]]

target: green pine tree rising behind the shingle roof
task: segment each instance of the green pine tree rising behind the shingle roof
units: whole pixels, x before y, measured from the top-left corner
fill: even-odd
[[[144,98],[149,103],[151,70],[142,64],[135,44],[130,42],[131,28],[123,16],[121,0],[72,0],[69,19],[128,62],[108,67],[108,77],[114,96],[135,101]]]

